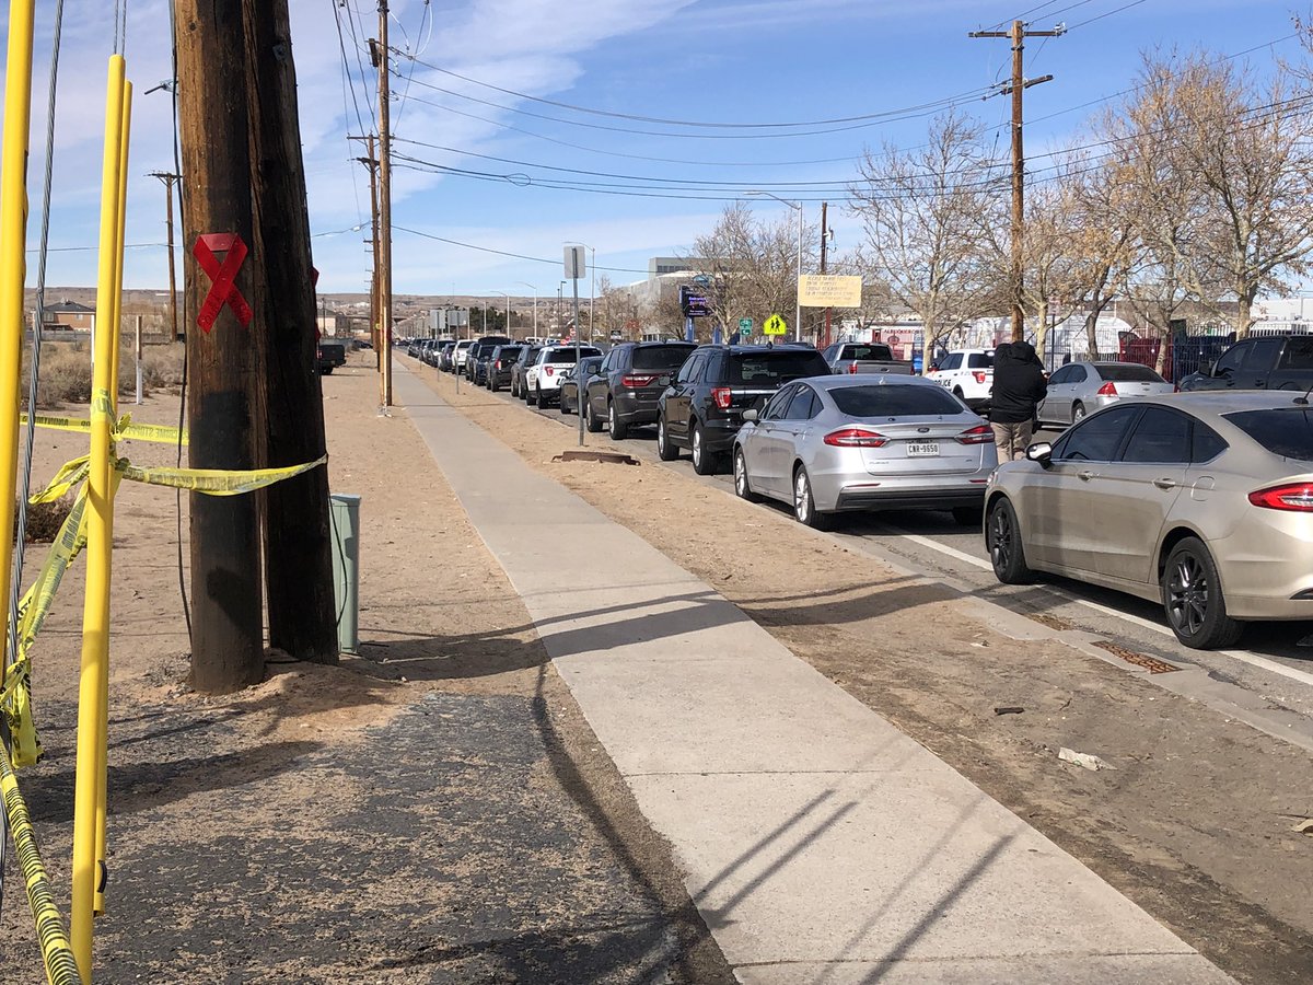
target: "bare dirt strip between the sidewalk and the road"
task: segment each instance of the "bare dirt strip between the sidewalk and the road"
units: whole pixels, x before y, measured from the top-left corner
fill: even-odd
[[[1003,636],[957,592],[781,510],[651,465],[553,462],[571,431],[407,365],[1239,981],[1313,980],[1313,839],[1291,830],[1313,817],[1306,753],[1065,645]],[[1113,768],[1062,763],[1062,746]]]

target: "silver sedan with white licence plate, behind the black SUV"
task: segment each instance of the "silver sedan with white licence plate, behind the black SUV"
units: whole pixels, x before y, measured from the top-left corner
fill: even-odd
[[[920,377],[798,380],[743,420],[735,491],[789,503],[809,527],[846,510],[952,510],[979,523],[998,462],[989,424]]]

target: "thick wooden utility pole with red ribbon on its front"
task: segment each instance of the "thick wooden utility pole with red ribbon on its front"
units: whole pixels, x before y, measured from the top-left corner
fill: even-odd
[[[251,205],[249,120],[242,0],[177,0],[179,127],[183,144],[184,282],[188,309],[201,311],[213,281],[193,255],[206,234],[255,242]],[[214,240],[211,240],[214,242]],[[221,261],[231,253],[218,256]],[[252,263],[234,289],[253,299]],[[234,298],[230,294],[228,301]],[[259,464],[259,362],[231,303],[210,331],[186,332],[189,460],[202,469]],[[264,675],[260,620],[260,527],[255,496],[192,494],[192,684],[222,693]]]

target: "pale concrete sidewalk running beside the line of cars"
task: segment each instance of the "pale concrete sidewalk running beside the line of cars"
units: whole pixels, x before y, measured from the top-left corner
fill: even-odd
[[[400,364],[395,387],[741,981],[1230,981]]]

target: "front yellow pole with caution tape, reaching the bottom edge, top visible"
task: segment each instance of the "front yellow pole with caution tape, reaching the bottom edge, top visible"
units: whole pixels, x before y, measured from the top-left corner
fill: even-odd
[[[100,269],[96,310],[113,313],[118,243],[119,165],[123,139],[123,58],[109,59],[105,92],[105,151],[100,185]],[[109,671],[109,566],[114,533],[109,481],[113,323],[96,334],[91,389],[91,470],[87,475],[87,596],[83,605],[81,676],[77,691],[77,780],[74,788],[72,946],[83,981],[91,981],[92,921],[101,859],[96,855],[96,813],[105,785],[105,680]]]

